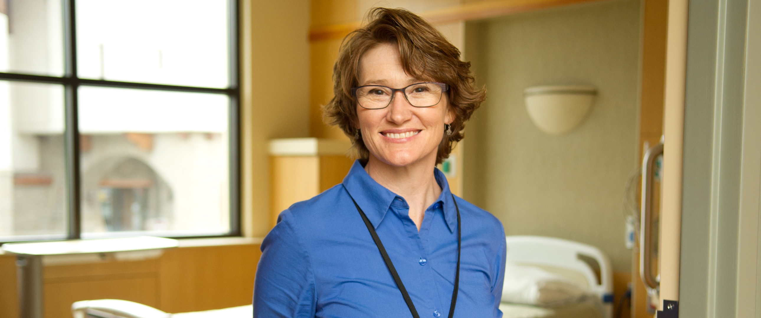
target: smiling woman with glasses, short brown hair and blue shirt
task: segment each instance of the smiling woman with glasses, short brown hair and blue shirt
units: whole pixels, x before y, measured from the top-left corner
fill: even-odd
[[[291,205],[262,244],[256,317],[498,317],[505,233],[435,164],[485,93],[470,63],[409,11],[375,8],[334,68],[326,119],[359,159]]]

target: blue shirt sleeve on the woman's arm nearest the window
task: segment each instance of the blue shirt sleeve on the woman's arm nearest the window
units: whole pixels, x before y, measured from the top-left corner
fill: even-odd
[[[294,221],[290,210],[283,211],[264,238],[253,288],[254,318],[314,317],[314,272]]]

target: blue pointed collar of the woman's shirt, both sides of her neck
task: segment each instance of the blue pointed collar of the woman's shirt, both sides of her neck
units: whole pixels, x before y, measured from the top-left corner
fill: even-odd
[[[441,209],[444,211],[444,220],[447,221],[447,227],[450,232],[454,232],[457,227],[457,211],[452,201],[452,195],[449,189],[447,178],[437,168],[434,168],[436,183],[441,186],[441,195],[436,202],[441,202]],[[362,167],[360,160],[354,161],[349,174],[343,178],[343,186],[349,196],[352,196],[359,208],[365,212],[370,223],[375,228],[380,225],[380,221],[386,216],[389,206],[396,199],[397,195],[386,187],[377,183]]]

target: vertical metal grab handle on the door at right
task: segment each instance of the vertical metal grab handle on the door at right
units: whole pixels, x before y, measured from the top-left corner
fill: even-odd
[[[648,149],[642,160],[642,213],[640,213],[642,220],[639,223],[639,276],[648,288],[658,288],[658,285],[660,285],[658,278],[653,275],[651,266],[651,227],[653,219],[653,169],[655,159],[663,153],[664,144],[661,141],[658,145]]]

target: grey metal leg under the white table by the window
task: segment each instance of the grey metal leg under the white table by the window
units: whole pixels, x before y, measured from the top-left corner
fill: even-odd
[[[16,256],[20,318],[43,318],[43,256]]]

